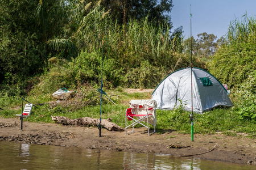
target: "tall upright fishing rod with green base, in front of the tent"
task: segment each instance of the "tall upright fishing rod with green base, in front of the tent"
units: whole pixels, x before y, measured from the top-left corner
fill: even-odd
[[[192,12],[190,5],[190,68],[191,68],[191,114],[189,114],[189,118],[191,120],[191,141],[194,141],[194,129],[193,129],[193,80],[192,80]]]

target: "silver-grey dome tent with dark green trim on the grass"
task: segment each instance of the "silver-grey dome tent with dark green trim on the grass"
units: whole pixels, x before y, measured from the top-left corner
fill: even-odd
[[[232,107],[228,92],[208,71],[192,68],[193,112],[203,113],[223,105]],[[158,109],[174,109],[183,104],[191,111],[191,68],[179,69],[162,80],[152,93]]]

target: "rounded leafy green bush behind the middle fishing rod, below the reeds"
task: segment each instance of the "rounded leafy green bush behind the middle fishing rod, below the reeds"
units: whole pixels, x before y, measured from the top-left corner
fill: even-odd
[[[86,50],[73,59],[71,71],[77,83],[90,83],[92,86],[101,83],[102,54],[100,51],[88,53]],[[118,69],[118,62],[105,57],[103,61],[103,83],[105,88],[118,86],[122,79],[122,71]]]

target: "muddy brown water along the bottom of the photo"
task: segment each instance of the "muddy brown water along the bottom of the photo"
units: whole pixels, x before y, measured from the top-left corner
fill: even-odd
[[[0,141],[0,169],[255,169],[255,166]]]

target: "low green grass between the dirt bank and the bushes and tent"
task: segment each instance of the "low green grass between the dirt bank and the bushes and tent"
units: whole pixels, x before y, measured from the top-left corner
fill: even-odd
[[[106,91],[109,96],[115,96],[114,105],[108,99],[104,99],[104,104],[102,104],[101,116],[102,118],[112,118],[112,122],[115,124],[125,127],[125,111],[129,108],[129,101],[132,99],[148,99],[149,93],[134,93],[128,94],[122,88],[117,90]],[[98,95],[100,98],[100,93],[93,93]],[[36,103],[49,103],[49,101],[54,101],[51,99],[51,95],[40,95],[38,97],[26,96],[25,99],[33,104]],[[95,97],[95,96],[93,96]],[[113,98],[112,98],[113,99]],[[85,99],[83,99],[85,100]],[[2,96],[0,101],[4,101],[6,104],[4,107],[1,104],[0,108],[4,111],[0,111],[0,116],[5,118],[16,117],[15,114],[20,114],[22,112],[22,100],[19,97],[5,97]],[[87,101],[87,99],[85,100]],[[92,117],[100,118],[100,100],[97,101],[98,104],[85,105],[84,107],[74,107],[71,105],[51,105],[45,104],[32,109],[31,116],[26,118],[26,121],[30,122],[53,122],[51,120],[52,116],[65,116],[69,118],[80,118],[80,117]],[[26,103],[26,102],[25,102]],[[223,131],[222,134],[237,136],[236,133],[247,133],[247,138],[255,138],[256,124],[253,120],[242,120],[238,116],[239,113],[228,108],[216,108],[213,111],[206,112],[204,114],[194,114],[194,131],[195,134],[214,134],[216,131]],[[183,111],[181,108],[177,108],[173,111],[167,110],[157,110],[157,124],[156,132],[158,134],[166,133],[166,131],[176,131],[177,133],[191,133],[191,121],[189,120],[189,112]],[[136,126],[141,127],[141,125]],[[153,129],[154,126],[150,125]],[[234,132],[232,132],[232,131]],[[170,136],[167,138],[174,138]]]

